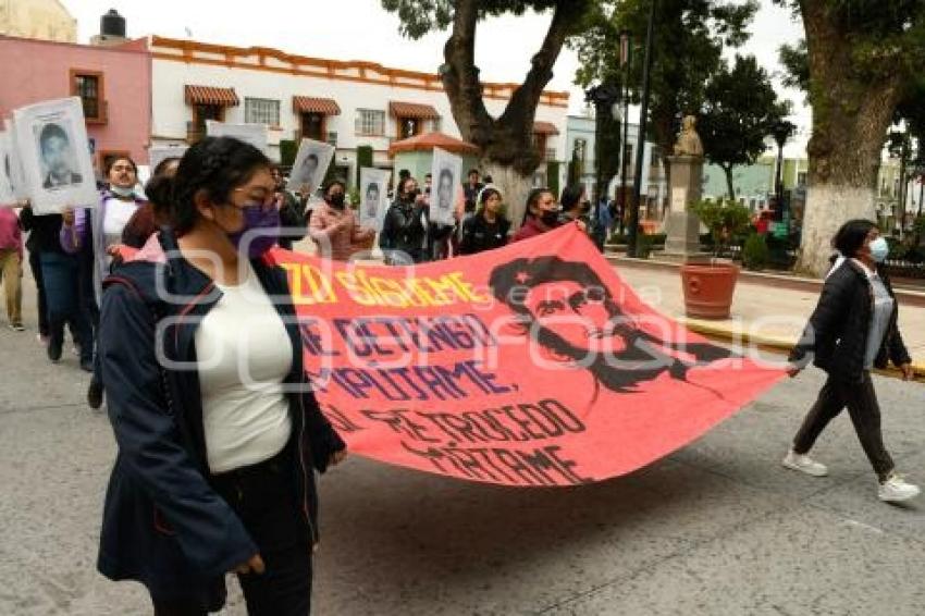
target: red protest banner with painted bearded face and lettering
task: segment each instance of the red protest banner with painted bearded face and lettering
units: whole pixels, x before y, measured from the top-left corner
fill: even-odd
[[[640,300],[576,226],[415,268],[275,251],[350,449],[505,485],[627,473],[782,375]]]

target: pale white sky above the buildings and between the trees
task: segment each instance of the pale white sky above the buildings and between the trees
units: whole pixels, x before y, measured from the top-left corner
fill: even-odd
[[[100,16],[115,9],[127,22],[133,38],[157,34],[238,47],[273,47],[301,56],[336,60],[367,60],[386,66],[436,72],[443,62],[446,33],[420,40],[403,38],[398,19],[381,8],[380,0],[60,0],[76,17],[78,41],[87,42],[99,32]],[[733,0],[735,1],[735,0]],[[761,0],[752,24],[752,39],[743,48],[753,53],[772,74],[779,74],[777,49],[802,35],[801,24],[788,10]],[[257,10],[259,8],[259,11]],[[530,57],[542,42],[551,14],[528,13],[503,16],[480,24],[476,63],[483,81],[522,81]],[[570,112],[583,108],[583,94],[572,82],[578,59],[564,50],[554,70],[550,89],[570,93]],[[787,90],[777,79],[779,94],[793,103],[791,120],[803,131],[810,113],[802,94]],[[794,139],[794,146],[802,138]]]

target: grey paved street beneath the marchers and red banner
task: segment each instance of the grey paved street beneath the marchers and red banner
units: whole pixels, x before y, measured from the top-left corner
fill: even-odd
[[[0,331],[0,614],[147,614],[138,587],[95,571],[113,440],[76,358],[46,360],[30,288],[30,332]],[[821,383],[809,370],[668,458],[578,489],[350,459],[322,480],[316,613],[920,615],[925,501],[876,500],[847,417],[817,447],[829,478],[779,466]],[[925,386],[876,385],[889,448],[925,482]],[[243,613],[235,591],[226,614]]]

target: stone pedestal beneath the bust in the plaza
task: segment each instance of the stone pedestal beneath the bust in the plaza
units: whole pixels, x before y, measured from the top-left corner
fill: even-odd
[[[668,157],[671,165],[671,185],[668,187],[670,210],[665,221],[664,255],[683,261],[700,260],[700,220],[690,206],[701,198],[703,186],[703,157]]]

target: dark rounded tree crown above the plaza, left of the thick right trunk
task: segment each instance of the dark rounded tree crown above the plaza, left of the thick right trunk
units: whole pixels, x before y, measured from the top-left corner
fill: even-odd
[[[706,158],[727,173],[753,164],[767,148],[773,126],[789,112],[754,56],[737,54],[731,69],[724,62],[707,84],[705,98],[698,132]]]

